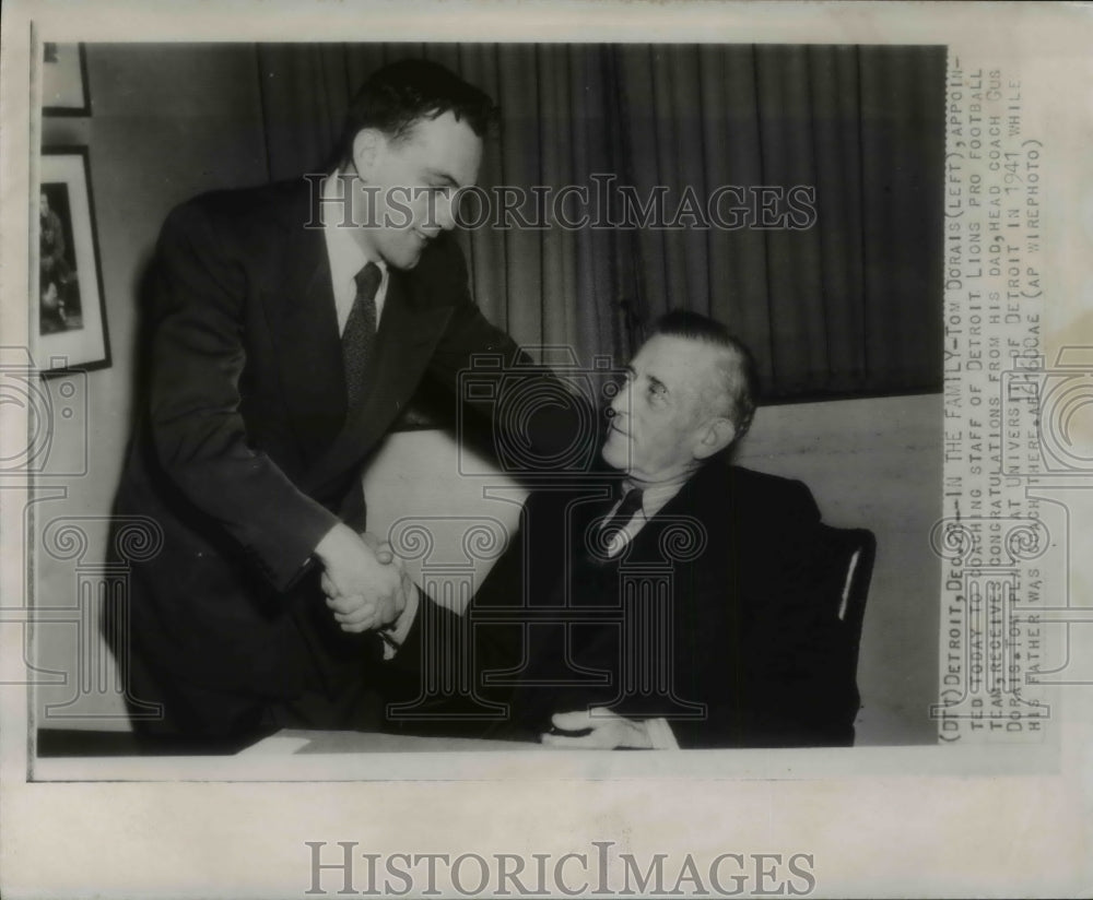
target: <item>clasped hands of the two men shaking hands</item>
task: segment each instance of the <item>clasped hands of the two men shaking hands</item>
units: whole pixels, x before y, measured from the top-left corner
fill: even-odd
[[[315,548],[322,564],[322,592],[343,631],[391,626],[414,590],[401,560],[374,535],[334,525]]]

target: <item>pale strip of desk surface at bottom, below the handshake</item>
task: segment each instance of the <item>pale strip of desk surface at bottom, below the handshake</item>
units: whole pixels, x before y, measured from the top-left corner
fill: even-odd
[[[239,751],[239,756],[295,756],[361,753],[482,753],[541,750],[525,741],[486,741],[473,737],[421,737],[379,732],[307,731],[282,729]]]

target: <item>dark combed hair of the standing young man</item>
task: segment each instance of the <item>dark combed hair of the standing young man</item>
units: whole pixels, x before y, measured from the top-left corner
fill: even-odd
[[[365,128],[377,128],[389,140],[406,138],[422,119],[451,112],[480,138],[496,125],[493,100],[450,69],[424,59],[403,59],[377,69],[357,91],[345,114],[336,159],[353,158],[353,141]]]

